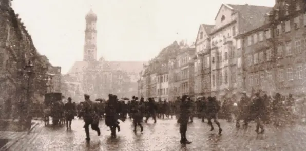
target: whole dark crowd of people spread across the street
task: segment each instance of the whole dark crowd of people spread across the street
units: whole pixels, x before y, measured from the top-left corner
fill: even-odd
[[[222,133],[218,118],[225,119],[227,122],[236,121],[236,126],[240,127],[240,121],[243,120],[243,126],[247,126],[251,121],[255,121],[256,132],[264,133],[264,124],[274,123],[276,126],[283,124],[292,124],[297,118],[293,114],[296,108],[293,96],[285,98],[277,93],[274,97],[268,96],[263,91],[252,93],[247,96],[242,92],[239,101],[235,99],[217,100],[216,97],[190,98],[187,95],[176,98],[174,101],[166,101],[154,98],[138,98],[132,96],[131,100],[122,98],[119,100],[116,95],[109,94],[108,99],[97,99],[91,101],[89,95],[85,94],[85,100],[75,104],[68,98],[68,102],[63,105],[61,113],[65,118],[67,130],[71,129],[71,122],[75,116],[83,118],[85,124],[86,140],[90,140],[89,125],[92,130],[100,135],[99,120],[104,119],[105,124],[111,130],[111,136],[116,137],[116,130],[120,131],[120,122],[130,118],[133,121],[133,131],[144,131],[142,123],[147,123],[151,117],[154,123],[157,118],[177,118],[180,124],[181,143],[189,144],[186,138],[187,123],[192,123],[193,119],[200,118],[202,122],[207,119],[207,124],[214,130],[213,122],[218,126],[218,133]],[[305,103],[306,101],[301,101]],[[213,122],[212,122],[213,120]]]

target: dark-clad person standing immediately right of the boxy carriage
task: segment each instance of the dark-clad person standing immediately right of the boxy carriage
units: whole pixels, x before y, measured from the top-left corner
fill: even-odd
[[[72,122],[72,119],[74,118],[74,113],[75,113],[75,106],[71,102],[71,100],[72,99],[70,97],[68,97],[68,102],[64,106],[67,130],[69,130],[69,128],[71,130],[71,122]]]

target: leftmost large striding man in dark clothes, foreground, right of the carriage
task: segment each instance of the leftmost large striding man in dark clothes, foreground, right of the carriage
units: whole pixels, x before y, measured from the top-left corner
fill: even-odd
[[[99,110],[97,109],[97,105],[95,105],[94,102],[92,102],[89,98],[90,96],[88,94],[84,95],[85,101],[83,102],[83,107],[81,113],[78,115],[78,117],[83,116],[84,119],[84,128],[86,133],[86,140],[90,140],[89,135],[89,125],[91,125],[91,129],[97,131],[98,136],[100,136],[100,128],[99,128]]]

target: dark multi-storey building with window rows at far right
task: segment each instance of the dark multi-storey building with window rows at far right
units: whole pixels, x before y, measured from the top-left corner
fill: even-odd
[[[246,88],[271,95],[305,93],[306,3],[276,1],[261,26],[239,35]]]

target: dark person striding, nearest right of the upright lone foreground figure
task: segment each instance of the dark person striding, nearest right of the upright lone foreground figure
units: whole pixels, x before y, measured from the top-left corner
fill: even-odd
[[[211,126],[211,130],[214,130],[214,126],[212,123],[212,119],[214,119],[214,122],[217,124],[217,126],[219,127],[219,134],[222,133],[222,128],[220,126],[219,121],[217,120],[217,114],[220,110],[220,104],[219,102],[216,100],[216,97],[208,97],[208,101],[207,101],[207,110],[206,110],[206,115],[207,115],[207,120],[208,120],[208,125]]]

